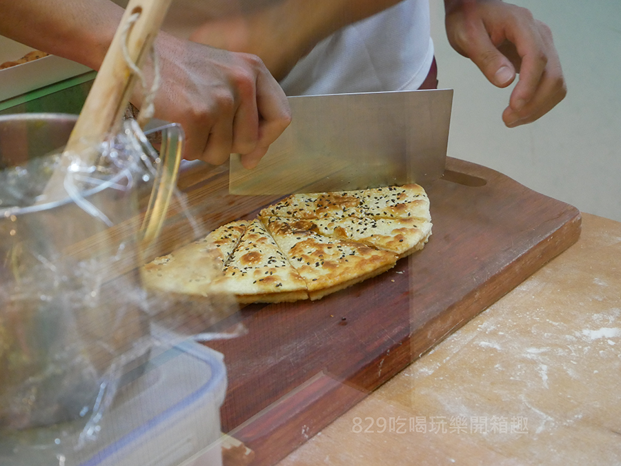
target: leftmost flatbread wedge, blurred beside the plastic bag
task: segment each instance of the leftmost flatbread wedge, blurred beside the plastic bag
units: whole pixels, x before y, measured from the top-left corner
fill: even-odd
[[[150,290],[179,294],[206,295],[224,270],[248,221],[227,223],[204,239],[158,257],[141,269],[142,281]]]

